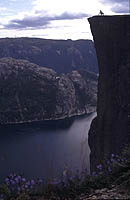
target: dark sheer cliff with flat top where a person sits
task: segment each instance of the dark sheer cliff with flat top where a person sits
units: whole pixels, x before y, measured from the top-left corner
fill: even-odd
[[[97,118],[89,132],[91,169],[130,142],[130,16],[89,18],[99,64]]]

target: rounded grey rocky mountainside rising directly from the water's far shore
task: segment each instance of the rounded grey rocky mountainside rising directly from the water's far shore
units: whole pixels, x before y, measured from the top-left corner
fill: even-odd
[[[96,106],[96,88],[97,76],[88,71],[57,75],[26,60],[2,58],[0,124],[90,113]]]

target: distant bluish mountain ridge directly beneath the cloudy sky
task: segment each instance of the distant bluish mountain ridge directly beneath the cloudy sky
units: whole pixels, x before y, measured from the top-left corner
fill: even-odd
[[[58,73],[85,69],[98,72],[91,40],[46,40],[38,38],[0,38],[0,58],[24,59]]]

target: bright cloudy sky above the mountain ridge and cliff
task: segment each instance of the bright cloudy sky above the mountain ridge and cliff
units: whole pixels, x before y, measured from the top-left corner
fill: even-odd
[[[88,17],[129,13],[130,0],[0,0],[0,38],[92,39]]]

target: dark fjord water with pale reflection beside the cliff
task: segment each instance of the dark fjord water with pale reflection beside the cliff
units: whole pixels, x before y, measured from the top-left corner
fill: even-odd
[[[0,179],[10,172],[48,179],[65,168],[89,170],[88,130],[95,115],[76,117],[66,128],[54,123],[0,128]]]

